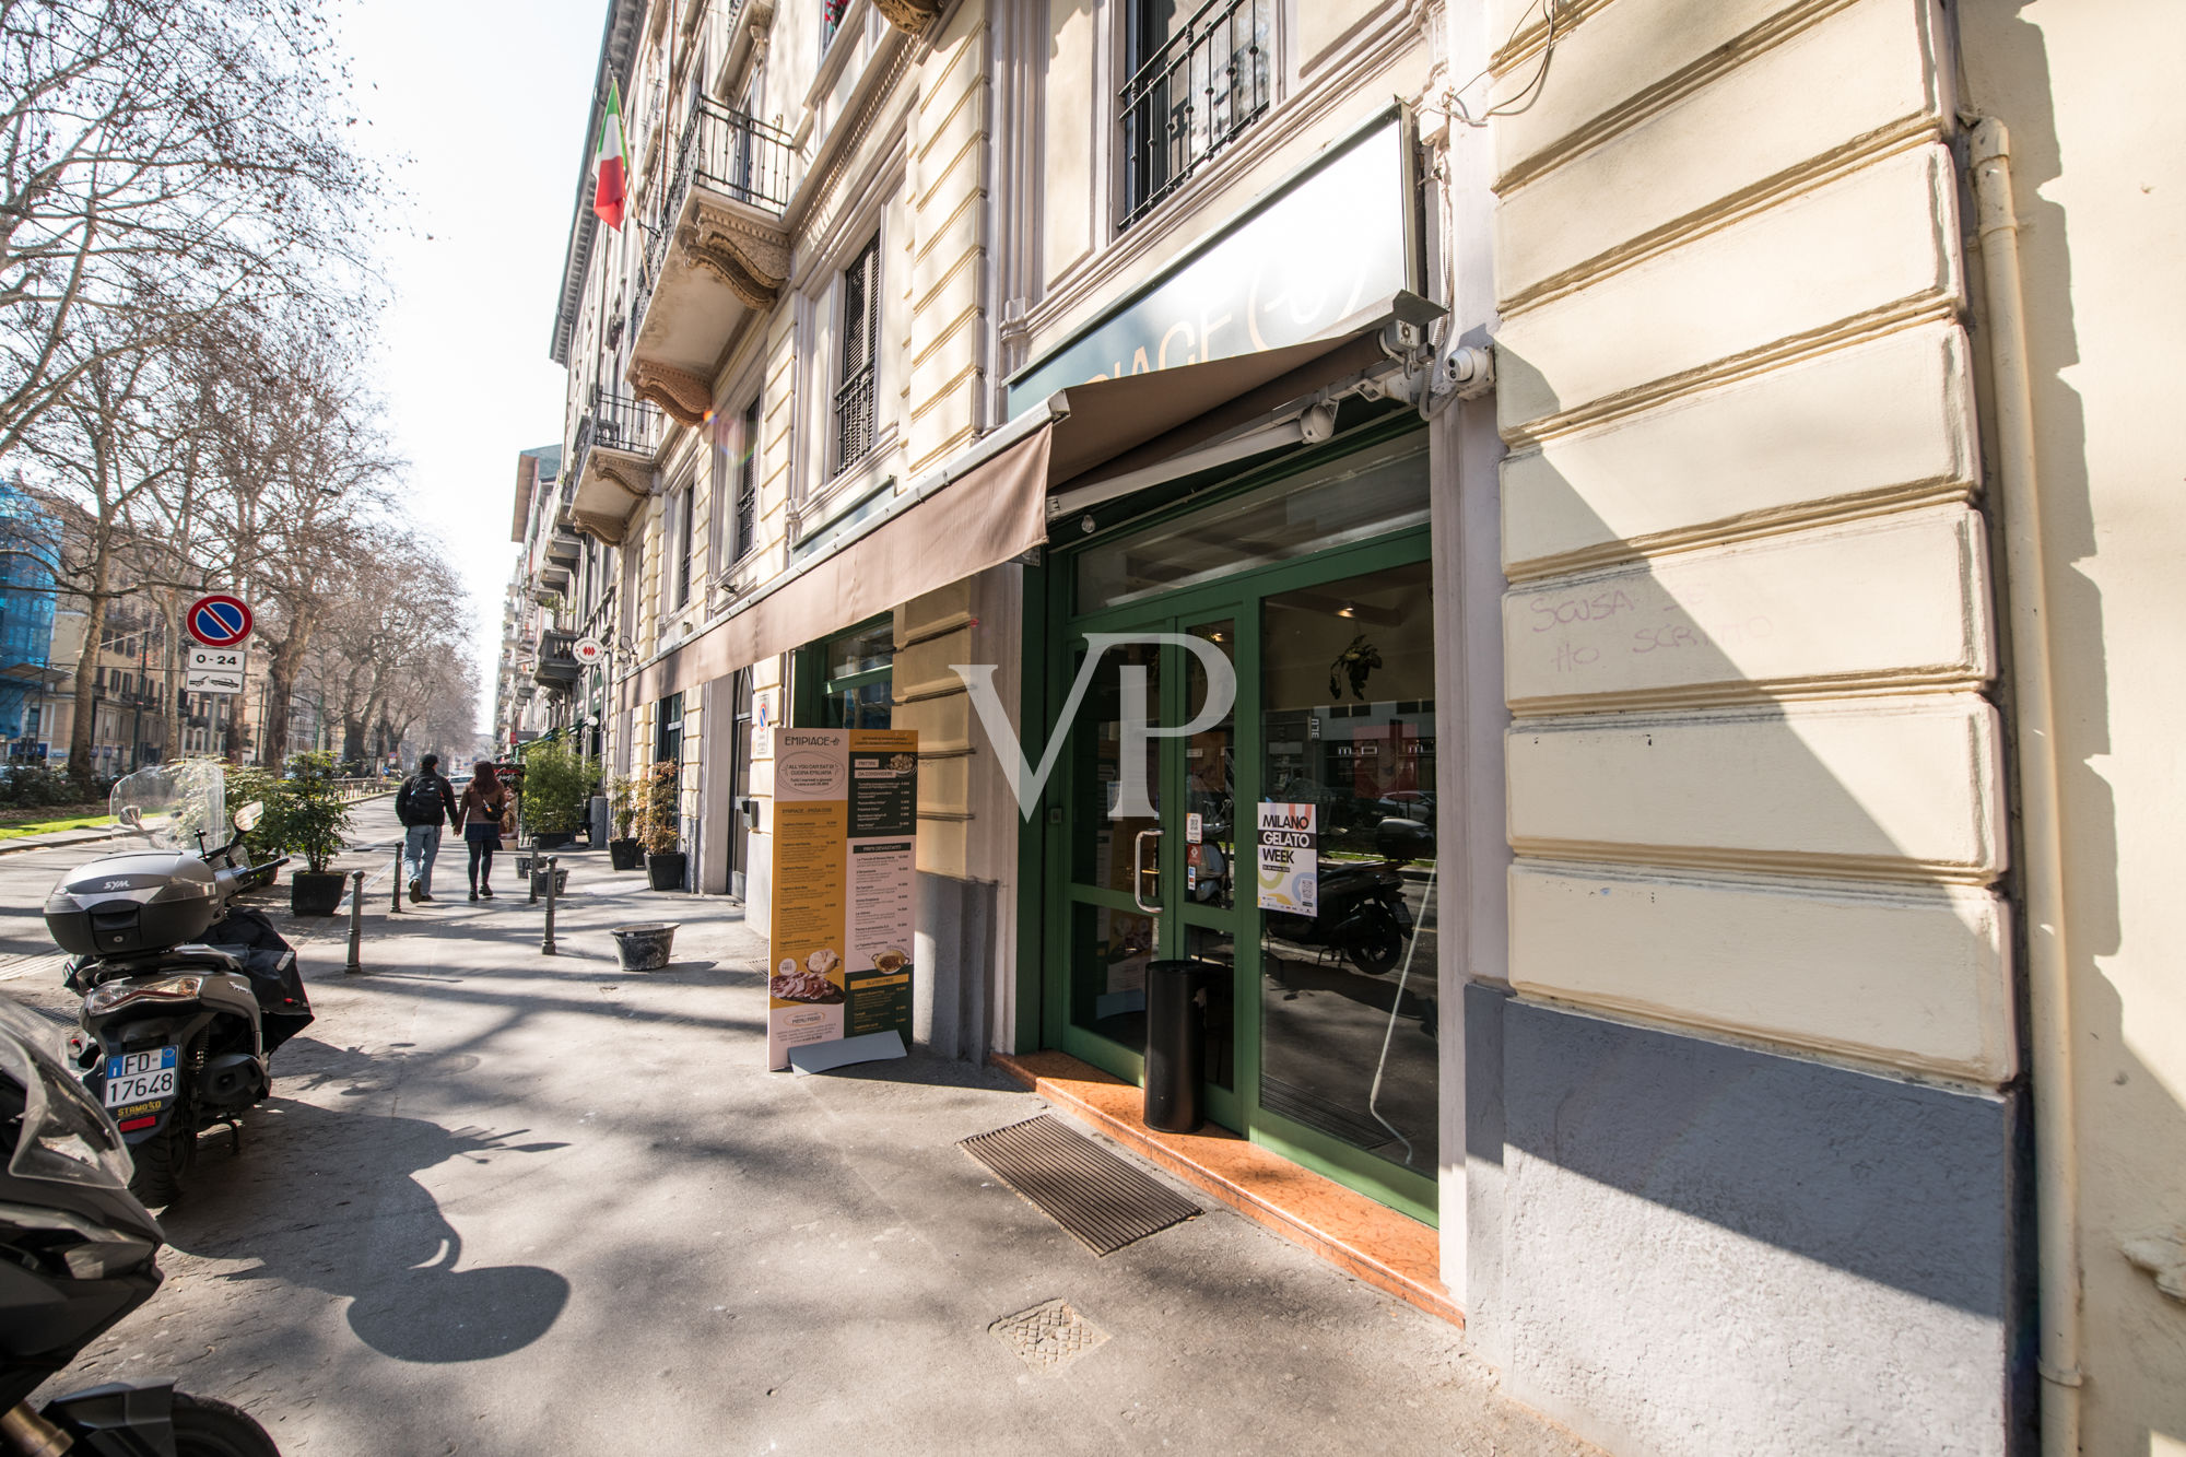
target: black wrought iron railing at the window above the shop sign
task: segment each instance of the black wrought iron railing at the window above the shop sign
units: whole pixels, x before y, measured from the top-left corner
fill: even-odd
[[[1124,85],[1130,228],[1268,112],[1274,0],[1207,0]]]

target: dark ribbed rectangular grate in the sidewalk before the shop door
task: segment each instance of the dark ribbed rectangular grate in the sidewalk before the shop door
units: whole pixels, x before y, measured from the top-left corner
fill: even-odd
[[[1041,1114],[957,1144],[1097,1256],[1178,1225],[1200,1205]]]

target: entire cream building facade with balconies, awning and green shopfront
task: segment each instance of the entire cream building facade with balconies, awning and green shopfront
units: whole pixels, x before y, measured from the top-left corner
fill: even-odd
[[[1137,1081],[1200,963],[1611,1450],[2186,1450],[2123,11],[610,4],[507,726],[761,932],[772,728],[916,728],[920,1039]]]

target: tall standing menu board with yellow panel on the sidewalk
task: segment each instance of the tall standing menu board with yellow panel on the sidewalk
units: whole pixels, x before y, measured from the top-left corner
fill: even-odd
[[[918,733],[778,731],[767,1068],[866,1033],[912,1046],[916,871]]]

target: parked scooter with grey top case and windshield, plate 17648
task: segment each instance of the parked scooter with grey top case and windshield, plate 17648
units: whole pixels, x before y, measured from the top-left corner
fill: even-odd
[[[118,1120],[144,1203],[181,1194],[199,1131],[234,1131],[273,1089],[273,1050],[310,1024],[295,949],[234,904],[282,864],[240,864],[260,812],[225,818],[203,764],[140,770],[114,785],[114,818],[146,847],[79,866],[46,897],[46,930],[74,954],[66,984],[83,995],[70,1054]],[[208,823],[232,838],[184,849]]]

